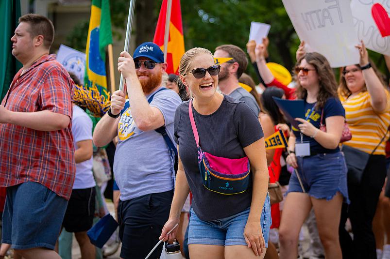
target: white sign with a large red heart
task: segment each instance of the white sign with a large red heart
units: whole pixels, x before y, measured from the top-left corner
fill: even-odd
[[[373,51],[390,55],[390,0],[352,0],[351,10],[359,40]]]

